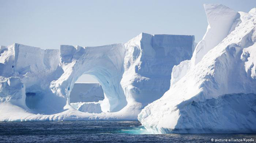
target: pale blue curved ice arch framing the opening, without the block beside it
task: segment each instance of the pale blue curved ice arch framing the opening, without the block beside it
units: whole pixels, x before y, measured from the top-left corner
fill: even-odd
[[[123,44],[86,48],[61,45],[60,64],[65,70],[58,80],[52,82],[52,90],[69,100],[75,81],[82,74],[94,75],[110,102],[110,111],[120,110],[127,104],[120,84],[124,53]]]

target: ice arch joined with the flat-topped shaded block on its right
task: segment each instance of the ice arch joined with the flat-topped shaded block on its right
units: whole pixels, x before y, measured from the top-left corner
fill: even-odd
[[[64,73],[51,83],[51,90],[67,97],[69,105],[75,81],[82,74],[90,74],[102,85],[111,112],[124,107],[138,107],[139,112],[169,89],[172,68],[190,59],[193,48],[194,36],[144,33],[124,44],[61,45],[60,66]]]

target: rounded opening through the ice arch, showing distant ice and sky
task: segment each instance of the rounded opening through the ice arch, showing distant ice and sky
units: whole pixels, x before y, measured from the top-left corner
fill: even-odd
[[[110,110],[100,82],[94,75],[82,74],[70,93],[70,104],[82,112],[101,113]]]

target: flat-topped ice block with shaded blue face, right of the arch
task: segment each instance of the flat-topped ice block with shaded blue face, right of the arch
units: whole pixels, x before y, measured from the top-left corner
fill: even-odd
[[[142,33],[125,45],[121,85],[127,100],[143,107],[169,89],[172,68],[191,58],[194,36]]]

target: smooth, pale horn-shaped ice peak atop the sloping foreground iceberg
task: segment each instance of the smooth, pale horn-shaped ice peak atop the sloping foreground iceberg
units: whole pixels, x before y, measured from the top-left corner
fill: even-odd
[[[200,62],[203,56],[217,46],[233,30],[234,20],[239,13],[223,5],[204,4],[208,27],[203,39],[197,44],[193,58],[193,66]],[[237,24],[237,23],[236,23]]]

